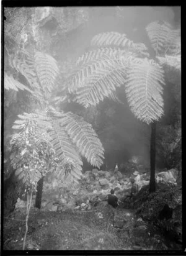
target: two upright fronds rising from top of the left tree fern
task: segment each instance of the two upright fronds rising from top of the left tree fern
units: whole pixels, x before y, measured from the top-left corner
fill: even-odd
[[[9,56],[9,63],[26,78],[42,104],[51,97],[51,90],[55,89],[60,72],[53,57],[42,52],[20,50],[16,55]]]

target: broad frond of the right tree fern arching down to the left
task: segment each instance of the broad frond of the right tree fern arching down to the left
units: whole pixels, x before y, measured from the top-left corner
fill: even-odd
[[[69,93],[87,107],[95,105],[105,97],[116,99],[114,91],[125,81],[125,60],[135,53],[112,48],[97,49],[82,55],[78,67],[66,82]]]

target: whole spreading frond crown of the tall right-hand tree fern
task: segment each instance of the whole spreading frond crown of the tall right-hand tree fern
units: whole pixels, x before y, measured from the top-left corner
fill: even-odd
[[[167,63],[180,68],[180,55],[174,56],[176,63],[172,61],[172,55],[180,54],[177,39],[180,30],[172,29],[166,22],[152,22],[146,31],[156,57],[167,58],[171,54]],[[116,88],[124,85],[133,114],[147,124],[158,121],[164,106],[164,70],[156,60],[146,58],[149,57],[146,46],[118,32],[95,35],[91,45],[100,48],[79,57],[66,82],[69,93],[75,94],[74,101],[85,107],[95,106],[106,97],[115,99]]]

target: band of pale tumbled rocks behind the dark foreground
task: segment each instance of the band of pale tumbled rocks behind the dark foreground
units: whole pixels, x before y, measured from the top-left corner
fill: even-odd
[[[78,211],[89,211],[92,206],[100,201],[107,201],[111,189],[115,190],[118,199],[122,199],[130,193],[131,176],[135,179],[139,190],[149,184],[149,172],[140,174],[134,171],[131,175],[122,175],[120,171],[103,171],[93,169],[86,171],[79,184],[61,185],[61,181],[51,177],[44,181],[42,210],[45,211],[66,211],[74,209]],[[156,181],[164,179],[165,182],[175,182],[177,171],[171,169],[156,173]],[[69,189],[70,188],[70,189]],[[34,198],[32,206],[34,204]],[[16,208],[25,207],[24,201],[17,202]]]

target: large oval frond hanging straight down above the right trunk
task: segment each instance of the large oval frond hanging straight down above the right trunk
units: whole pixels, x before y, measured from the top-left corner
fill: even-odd
[[[153,60],[131,63],[125,85],[126,98],[135,116],[149,124],[163,114],[164,71]]]

